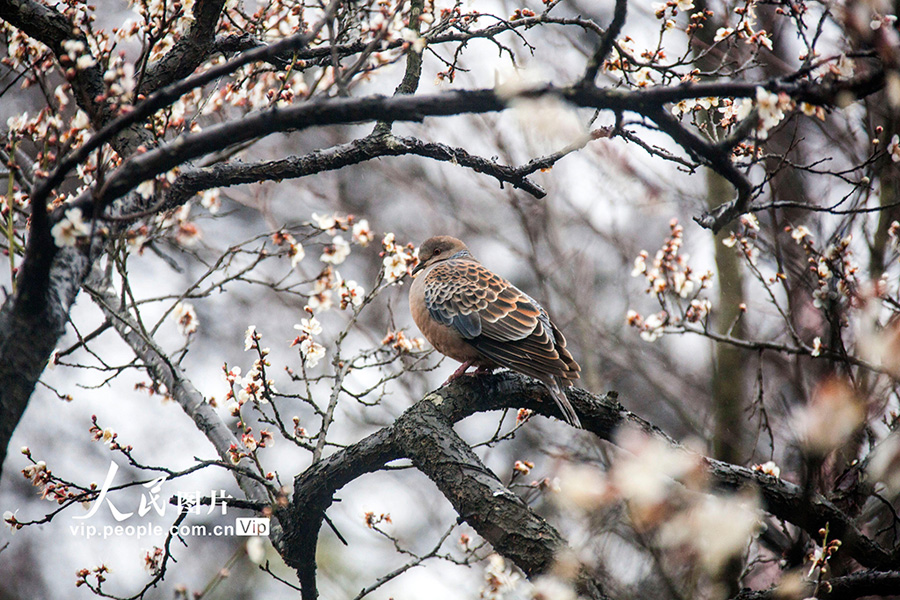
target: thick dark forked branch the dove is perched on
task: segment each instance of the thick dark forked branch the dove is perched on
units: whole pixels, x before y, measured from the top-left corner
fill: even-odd
[[[615,442],[621,429],[637,428],[677,445],[661,430],[625,410],[612,394],[599,397],[570,388],[567,395],[578,411],[584,429],[601,439]],[[276,543],[285,560],[297,569],[307,589],[314,586],[316,540],[334,493],[391,460],[408,457],[435,481],[460,517],[475,527],[495,549],[526,573],[542,572],[548,565],[546,561],[551,560],[562,542],[555,535],[541,534],[537,548],[526,546],[524,556],[518,553],[517,548],[521,550],[524,543],[518,536],[525,535],[530,540],[545,524],[535,520],[537,517],[530,514],[527,507],[515,512],[515,518],[505,512],[512,510],[516,501],[507,495],[508,491],[496,477],[477,462],[477,457],[470,454],[471,450],[459,445],[465,444],[457,441],[450,428],[452,423],[476,412],[517,408],[562,418],[544,386],[530,378],[515,373],[466,377],[432,392],[392,426],[313,465],[295,479],[292,505],[282,518],[282,523],[287,524],[286,532]],[[846,514],[821,496],[808,502],[798,486],[782,479],[712,459],[705,458],[704,461],[717,486],[731,490],[757,489],[766,510],[775,517],[802,527],[812,535],[828,524],[830,531],[843,542],[841,552],[860,564],[870,568],[895,564],[896,557],[864,536]],[[517,521],[519,518],[524,521]],[[513,543],[513,540],[518,541]],[[586,585],[585,581],[580,585]],[[305,596],[307,600],[315,597],[314,592],[310,594]]]

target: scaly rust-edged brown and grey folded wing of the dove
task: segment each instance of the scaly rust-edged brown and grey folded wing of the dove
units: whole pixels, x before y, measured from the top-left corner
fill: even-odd
[[[453,327],[486,358],[541,380],[577,378],[578,365],[544,309],[480,263],[438,263],[424,283],[431,317]]]

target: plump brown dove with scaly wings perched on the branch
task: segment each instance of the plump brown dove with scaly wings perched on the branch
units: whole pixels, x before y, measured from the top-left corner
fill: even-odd
[[[409,309],[422,335],[462,363],[445,385],[506,367],[539,380],[574,427],[581,421],[563,393],[581,367],[540,304],[481,264],[460,240],[439,235],[421,245],[412,270]]]

